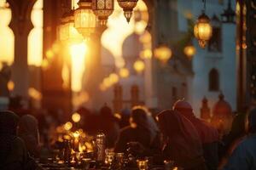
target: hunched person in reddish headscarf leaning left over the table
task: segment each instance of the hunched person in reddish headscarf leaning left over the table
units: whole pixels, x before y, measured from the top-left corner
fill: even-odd
[[[166,143],[164,159],[174,161],[175,166],[184,170],[206,170],[201,139],[194,125],[172,110],[160,112],[157,120]]]

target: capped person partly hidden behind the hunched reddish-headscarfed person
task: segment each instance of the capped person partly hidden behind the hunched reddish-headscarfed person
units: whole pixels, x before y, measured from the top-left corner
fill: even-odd
[[[218,168],[218,130],[208,122],[197,118],[192,106],[186,101],[177,100],[172,109],[178,111],[193,123],[201,139],[207,168],[216,170]]]

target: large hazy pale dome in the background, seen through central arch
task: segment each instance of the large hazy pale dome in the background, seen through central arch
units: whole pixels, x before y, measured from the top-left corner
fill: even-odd
[[[122,54],[124,59],[137,59],[140,52],[143,50],[143,43],[139,40],[139,35],[132,33],[125,38],[122,47]]]

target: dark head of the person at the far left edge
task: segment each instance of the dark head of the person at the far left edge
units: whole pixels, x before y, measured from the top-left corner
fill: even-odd
[[[16,134],[19,116],[12,111],[0,111],[0,134]]]

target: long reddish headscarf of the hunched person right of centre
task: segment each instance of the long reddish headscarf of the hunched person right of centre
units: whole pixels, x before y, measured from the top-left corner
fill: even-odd
[[[194,125],[177,111],[166,110],[157,116],[160,130],[169,138],[172,150],[182,155],[178,150],[183,150],[186,156],[201,156],[202,148],[199,135]],[[185,156],[185,155],[183,155]]]

